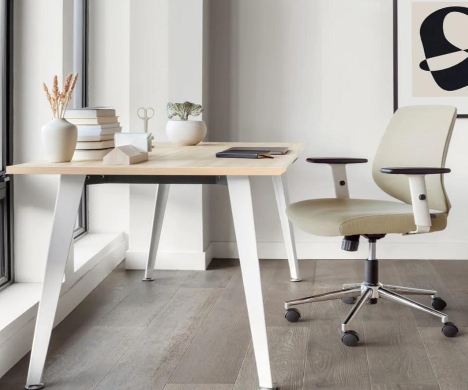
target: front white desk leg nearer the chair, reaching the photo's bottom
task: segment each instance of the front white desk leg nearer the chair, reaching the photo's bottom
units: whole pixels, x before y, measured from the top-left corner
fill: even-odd
[[[254,209],[249,176],[228,176],[229,196],[234,219],[235,237],[249,313],[255,363],[260,389],[275,389],[272,383],[267,328],[263,309],[260,266],[255,238]]]

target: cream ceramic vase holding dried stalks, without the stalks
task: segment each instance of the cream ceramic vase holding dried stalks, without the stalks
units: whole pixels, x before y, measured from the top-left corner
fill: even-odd
[[[78,129],[64,118],[54,118],[42,126],[42,145],[51,162],[72,160],[77,147]]]

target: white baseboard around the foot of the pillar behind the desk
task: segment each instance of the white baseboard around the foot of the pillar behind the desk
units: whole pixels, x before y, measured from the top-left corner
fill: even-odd
[[[148,252],[132,251],[125,255],[126,270],[144,270]],[[211,246],[206,252],[158,252],[155,270],[194,270],[204,271],[213,258]]]

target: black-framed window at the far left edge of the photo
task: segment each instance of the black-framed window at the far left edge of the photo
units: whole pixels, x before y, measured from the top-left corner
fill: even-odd
[[[0,2],[0,289],[13,281],[12,255],[12,202],[13,183],[5,175],[12,163],[12,20],[13,0]]]

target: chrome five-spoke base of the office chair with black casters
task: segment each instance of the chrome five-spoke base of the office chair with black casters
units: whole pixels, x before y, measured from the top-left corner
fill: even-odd
[[[433,307],[431,308],[429,306],[423,305],[419,302],[407,298],[406,296],[403,296],[402,294],[430,295],[432,298]],[[348,313],[341,324],[343,344],[347,346],[354,346],[359,341],[359,335],[355,331],[351,330],[350,322],[362,309],[365,303],[370,302],[370,300],[372,300],[372,303],[376,303],[378,298],[382,298],[440,318],[442,322],[442,332],[444,335],[447,337],[455,337],[458,333],[458,328],[453,323],[448,322],[447,314],[436,310],[443,310],[446,306],[445,301],[436,295],[437,291],[435,290],[415,289],[412,287],[393,286],[382,283],[348,283],[344,284],[341,290],[325,292],[306,298],[286,301],[284,305],[286,310],[285,317],[290,322],[298,321],[300,318],[300,312],[293,308],[297,305],[355,297],[356,300],[351,308],[351,311]]]

